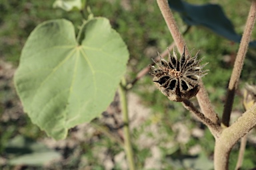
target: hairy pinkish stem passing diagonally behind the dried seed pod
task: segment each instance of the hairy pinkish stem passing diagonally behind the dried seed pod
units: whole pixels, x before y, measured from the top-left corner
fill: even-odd
[[[181,33],[179,33],[179,29],[178,29],[176,21],[173,17],[173,13],[171,13],[171,9],[169,8],[168,1],[167,0],[157,0],[157,4],[159,6],[159,9],[161,10],[163,18],[165,19],[165,22],[167,23],[167,26],[169,28],[169,31],[171,32],[173,40],[175,41],[175,44],[177,45],[179,53],[182,54],[183,47],[185,46],[185,41],[184,41]],[[188,54],[187,48],[185,49],[185,54]],[[217,124],[219,118],[218,118],[217,114],[215,114],[215,112],[211,106],[209,96],[207,94],[207,91],[205,90],[205,86],[203,86],[202,81],[200,82],[200,86],[201,86],[201,90],[199,90],[199,93],[197,94],[197,100],[199,102],[201,110],[203,111],[203,114],[205,114],[205,117],[207,117],[209,120],[211,120],[211,122],[214,122],[215,124]]]

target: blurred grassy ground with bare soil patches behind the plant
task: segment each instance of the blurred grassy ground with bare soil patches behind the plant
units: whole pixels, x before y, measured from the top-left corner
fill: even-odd
[[[250,1],[199,1],[219,4],[235,31],[241,35]],[[79,11],[53,9],[54,1],[0,0],[0,169],[127,169],[125,152],[119,144],[122,122],[118,95],[101,118],[92,124],[70,129],[67,139],[55,141],[33,125],[13,86],[21,50],[33,29],[49,19],[65,18],[76,31],[83,17]],[[156,1],[87,1],[95,17],[107,17],[126,42],[130,59],[127,81],[151,64],[157,51],[163,52],[173,39]],[[174,11],[181,33],[187,30]],[[221,116],[226,88],[239,44],[213,33],[206,27],[192,26],[184,35],[192,54],[209,62],[203,78],[213,106]],[[252,40],[256,39],[253,31]],[[245,111],[243,86],[255,83],[256,50],[249,48],[235,96],[231,121]],[[180,103],[170,102],[159,92],[147,74],[129,91],[131,135],[137,169],[213,169],[214,138]],[[197,105],[195,98],[192,102]],[[239,144],[233,147],[230,169],[235,168]],[[256,167],[256,132],[249,133],[243,169]]]

